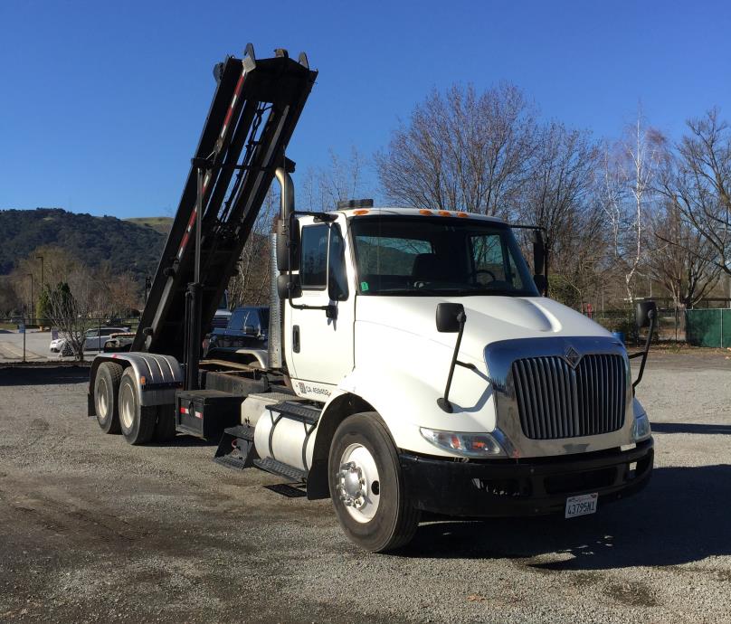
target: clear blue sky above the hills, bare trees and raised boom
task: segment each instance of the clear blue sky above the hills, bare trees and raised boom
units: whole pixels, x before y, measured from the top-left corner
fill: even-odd
[[[544,118],[616,136],[641,101],[678,137],[731,118],[724,2],[62,2],[0,4],[0,208],[172,215],[214,90],[252,42],[308,52],[318,82],[290,142],[384,147],[432,88],[510,80]]]

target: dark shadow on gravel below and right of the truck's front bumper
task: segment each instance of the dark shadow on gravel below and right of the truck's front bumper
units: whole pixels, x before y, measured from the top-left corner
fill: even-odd
[[[597,515],[437,522],[400,554],[527,559],[544,570],[676,565],[731,555],[729,510],[731,466],[655,468],[648,487]]]

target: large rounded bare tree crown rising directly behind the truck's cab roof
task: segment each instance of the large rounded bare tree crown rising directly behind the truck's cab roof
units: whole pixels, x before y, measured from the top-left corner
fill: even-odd
[[[452,85],[416,106],[375,165],[396,203],[507,216],[527,178],[535,133],[533,108],[516,86],[478,94]]]

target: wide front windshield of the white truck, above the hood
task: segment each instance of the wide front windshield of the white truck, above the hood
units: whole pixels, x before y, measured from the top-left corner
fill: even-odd
[[[363,295],[538,295],[507,225],[374,216],[350,227]]]

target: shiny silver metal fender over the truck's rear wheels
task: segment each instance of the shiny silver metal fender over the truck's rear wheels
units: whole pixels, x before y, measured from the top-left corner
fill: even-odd
[[[171,405],[176,402],[176,390],[183,386],[183,368],[172,355],[146,353],[118,353],[97,355],[91,363],[87,400],[89,415],[96,416],[94,382],[100,364],[114,362],[124,368],[131,366],[137,379],[136,388],[140,405]],[[144,385],[140,383],[145,378]]]

